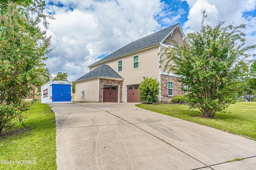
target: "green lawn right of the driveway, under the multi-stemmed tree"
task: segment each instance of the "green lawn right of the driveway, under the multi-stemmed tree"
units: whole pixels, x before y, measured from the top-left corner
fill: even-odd
[[[137,104],[136,106],[183,120],[214,127],[256,141],[256,102],[230,105],[213,119],[202,118],[196,109],[180,104]]]

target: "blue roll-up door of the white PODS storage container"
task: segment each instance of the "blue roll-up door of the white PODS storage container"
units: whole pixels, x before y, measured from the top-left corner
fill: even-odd
[[[71,102],[70,84],[52,84],[52,102]]]

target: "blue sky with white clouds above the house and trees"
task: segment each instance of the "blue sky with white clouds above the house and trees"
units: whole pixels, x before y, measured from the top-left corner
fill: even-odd
[[[256,44],[256,0],[46,0],[46,12],[56,18],[47,31],[46,67],[76,80],[99,58],[165,27],[199,31],[204,10],[207,24],[247,24],[246,45]]]

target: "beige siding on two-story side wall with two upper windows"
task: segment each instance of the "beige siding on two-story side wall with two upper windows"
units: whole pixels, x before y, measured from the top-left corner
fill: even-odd
[[[114,59],[108,61],[104,64],[109,65],[113,68],[123,80],[123,89],[122,89],[122,101],[125,101],[126,85],[139,84],[143,80],[143,76],[149,78],[156,78],[159,81],[159,57],[158,57],[159,47],[155,45],[149,49],[143,51],[135,52],[129,55],[126,55],[119,59]],[[139,67],[133,68],[133,57],[139,56]],[[118,72],[118,61],[122,60],[122,71]],[[97,68],[93,66],[90,68],[90,71]]]

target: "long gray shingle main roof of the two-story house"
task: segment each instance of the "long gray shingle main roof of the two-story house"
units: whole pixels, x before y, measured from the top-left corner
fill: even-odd
[[[158,43],[162,42],[177,25],[178,25],[178,23],[175,24],[175,25],[172,25],[168,28],[165,28],[161,31],[158,31],[156,33],[148,35],[144,38],[133,41],[132,43],[120,48],[119,50],[115,51],[114,53],[100,59],[99,61],[96,61],[95,63],[91,64],[90,66],[103,63],[105,61],[108,61],[108,60],[114,59],[116,57],[119,57],[120,55],[130,53],[132,51],[136,51],[136,50],[139,50],[139,49],[143,49],[145,47],[149,47],[151,45],[158,44]]]

